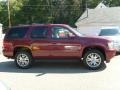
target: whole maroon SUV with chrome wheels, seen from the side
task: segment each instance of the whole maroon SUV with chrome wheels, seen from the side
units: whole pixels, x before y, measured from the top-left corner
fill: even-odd
[[[80,34],[65,24],[33,24],[10,28],[3,54],[19,68],[29,68],[37,58],[79,58],[89,69],[98,69],[115,55],[113,42]]]

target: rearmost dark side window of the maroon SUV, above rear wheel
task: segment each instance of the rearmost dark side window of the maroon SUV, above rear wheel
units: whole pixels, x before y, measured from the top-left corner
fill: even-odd
[[[8,39],[19,39],[23,38],[28,30],[28,27],[20,27],[20,28],[11,28],[8,32],[6,38]]]

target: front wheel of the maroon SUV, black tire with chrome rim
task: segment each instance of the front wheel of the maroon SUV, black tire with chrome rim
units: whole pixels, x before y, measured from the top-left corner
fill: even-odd
[[[94,57],[92,57],[90,55],[93,55]],[[84,65],[88,69],[91,69],[91,70],[96,70],[96,69],[101,68],[104,65],[104,60],[105,60],[105,57],[102,54],[102,52],[100,52],[99,50],[96,50],[96,49],[92,49],[90,51],[86,51],[86,53],[83,56],[83,63],[84,63]]]

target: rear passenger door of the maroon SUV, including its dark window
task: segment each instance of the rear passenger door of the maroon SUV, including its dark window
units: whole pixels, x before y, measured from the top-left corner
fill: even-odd
[[[34,26],[30,34],[31,48],[33,56],[49,56],[51,48],[49,47],[49,28],[47,26]]]

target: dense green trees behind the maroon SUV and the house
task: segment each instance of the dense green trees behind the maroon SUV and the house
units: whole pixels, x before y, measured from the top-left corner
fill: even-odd
[[[12,26],[31,23],[66,23],[74,26],[86,10],[103,2],[119,6],[120,0],[10,0]],[[7,1],[0,1],[0,23],[8,27]]]

